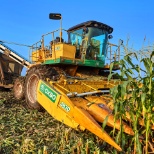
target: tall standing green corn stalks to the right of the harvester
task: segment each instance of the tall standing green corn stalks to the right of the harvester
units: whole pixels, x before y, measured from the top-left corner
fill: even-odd
[[[139,61],[140,65],[135,65],[132,61],[132,54],[136,61]],[[126,139],[126,135],[121,130],[116,137],[116,141],[120,143],[124,149],[130,142],[132,145],[131,151],[134,153],[142,154],[143,147],[145,147],[145,153],[147,154],[150,148],[150,137],[153,137],[151,127],[154,125],[154,63],[152,58],[154,51],[150,57],[138,59],[135,53],[124,56],[119,61],[120,73],[112,73],[114,63],[110,67],[110,80],[114,75],[118,76],[122,81],[120,85],[115,86],[110,90],[110,93],[114,100],[114,115],[115,120],[126,120],[134,130],[134,136],[130,139]],[[144,66],[144,69],[140,66]],[[141,75],[144,73],[144,76]],[[125,138],[125,140],[124,140]],[[127,137],[129,138],[129,137]],[[143,140],[144,138],[145,140]],[[127,141],[127,142],[126,142]],[[130,150],[130,147],[129,149]]]

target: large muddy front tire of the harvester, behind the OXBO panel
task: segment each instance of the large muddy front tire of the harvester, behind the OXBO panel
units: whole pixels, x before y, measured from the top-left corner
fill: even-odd
[[[54,77],[54,74],[58,75],[56,70],[51,66],[46,65],[34,66],[28,70],[25,80],[25,97],[29,108],[37,109],[39,111],[43,109],[37,102],[37,86],[40,79],[50,79],[51,77]]]

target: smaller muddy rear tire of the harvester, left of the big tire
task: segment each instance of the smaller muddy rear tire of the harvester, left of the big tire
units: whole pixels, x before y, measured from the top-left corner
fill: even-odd
[[[17,100],[23,100],[24,99],[24,82],[25,82],[25,77],[18,77],[13,85],[13,94],[14,97]]]

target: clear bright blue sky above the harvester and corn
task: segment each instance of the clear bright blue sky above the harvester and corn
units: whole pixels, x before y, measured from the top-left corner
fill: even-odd
[[[56,12],[63,16],[64,29],[97,20],[114,28],[112,43],[129,37],[130,46],[138,49],[145,36],[147,44],[154,43],[153,0],[0,0],[0,5],[0,40],[32,45],[59,28],[59,21],[48,18]],[[12,48],[28,58],[28,48]]]

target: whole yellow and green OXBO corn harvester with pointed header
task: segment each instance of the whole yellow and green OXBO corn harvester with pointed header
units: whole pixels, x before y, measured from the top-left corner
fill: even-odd
[[[49,15],[50,19],[60,19],[61,14]],[[120,129],[120,121],[114,122],[110,105],[109,89],[120,81],[107,80],[109,64],[105,65],[107,50],[110,62],[118,61],[119,46],[109,44],[113,28],[88,21],[67,31],[60,27],[60,37],[56,31],[47,33],[31,47],[31,64],[23,82],[15,81],[14,94],[17,99],[25,97],[30,108],[42,107],[55,119],[79,130],[89,130],[117,150],[122,149],[102,129],[100,123],[108,117],[107,125]],[[64,42],[62,31],[68,33]],[[45,46],[45,37],[52,40]],[[114,54],[113,47],[117,47]],[[118,66],[114,66],[118,69]],[[134,132],[124,123],[124,131]]]

